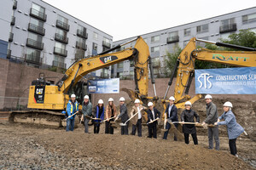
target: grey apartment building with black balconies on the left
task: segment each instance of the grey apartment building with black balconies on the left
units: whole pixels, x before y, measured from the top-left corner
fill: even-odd
[[[2,0],[0,9],[3,59],[67,69],[112,46],[112,36],[41,0]],[[94,75],[102,76],[102,71]]]

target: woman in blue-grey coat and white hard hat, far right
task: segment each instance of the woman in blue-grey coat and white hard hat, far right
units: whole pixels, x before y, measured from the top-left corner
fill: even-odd
[[[228,136],[229,136],[229,144],[230,144],[230,154],[233,156],[237,156],[237,150],[236,150],[236,139],[238,136],[241,135],[241,133],[244,132],[243,127],[241,127],[240,124],[236,122],[236,116],[231,111],[231,108],[233,105],[227,101],[223,105],[224,113],[222,116],[218,117],[218,121],[214,123],[214,125],[226,125],[228,130]],[[220,122],[220,120],[224,119],[223,122]]]

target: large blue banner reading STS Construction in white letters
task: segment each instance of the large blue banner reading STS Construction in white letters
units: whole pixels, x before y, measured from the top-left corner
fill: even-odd
[[[256,94],[256,67],[195,70],[195,94]]]

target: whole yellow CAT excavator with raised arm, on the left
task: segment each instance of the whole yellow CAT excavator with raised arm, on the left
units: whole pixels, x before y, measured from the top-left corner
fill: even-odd
[[[125,48],[122,51],[108,54],[131,42],[136,42],[134,48]],[[67,107],[69,94],[76,94],[80,104],[84,99],[84,82],[79,82],[79,80],[92,71],[117,64],[126,59],[134,60],[135,70],[135,91],[129,89],[126,89],[126,91],[133,99],[140,99],[144,104],[148,103],[148,99],[158,99],[155,94],[155,88],[154,97],[148,97],[148,64],[152,75],[153,67],[147,43],[143,41],[142,37],[137,37],[129,42],[110,48],[97,56],[77,60],[55,85],[45,82],[44,76],[40,75],[38,80],[33,81],[32,86],[29,88],[27,107],[32,111],[13,111],[9,116],[9,121],[46,125],[48,125],[47,122],[50,122],[49,125],[62,126],[61,120],[65,115],[61,114],[61,111]],[[154,77],[151,82],[154,86]]]

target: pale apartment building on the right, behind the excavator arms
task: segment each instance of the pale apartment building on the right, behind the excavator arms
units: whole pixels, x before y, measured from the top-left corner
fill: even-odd
[[[177,47],[184,48],[192,37],[217,42],[220,38],[227,39],[231,33],[238,33],[242,29],[251,29],[256,33],[256,7],[195,21],[182,26],[149,32],[143,34],[142,37],[148,43],[150,56],[153,58],[154,77],[165,77],[164,61],[167,52],[173,53]],[[136,37],[113,42],[113,46],[128,42],[133,38]],[[124,48],[130,48],[134,45],[130,43],[125,45]],[[201,42],[197,45],[202,47],[204,43]],[[112,77],[132,78],[134,75],[132,65],[133,61],[129,60],[113,65]]]

